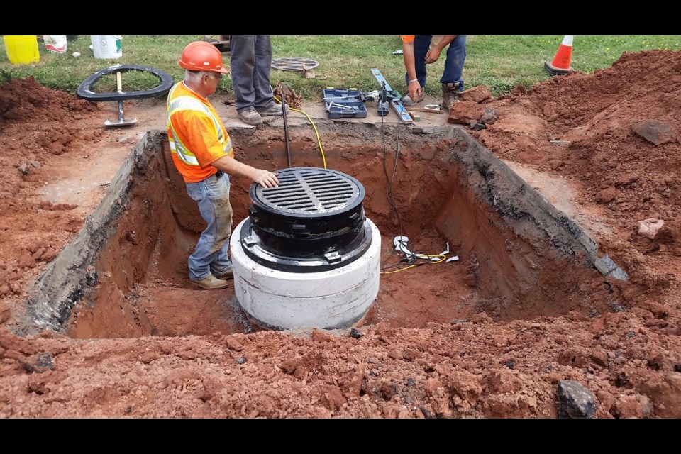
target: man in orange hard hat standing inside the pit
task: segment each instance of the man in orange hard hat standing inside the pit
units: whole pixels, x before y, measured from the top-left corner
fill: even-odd
[[[184,48],[178,63],[184,68],[184,80],[168,93],[168,141],[187,194],[199,204],[207,224],[187,260],[189,280],[204,289],[221,289],[234,275],[228,258],[230,176],[248,177],[264,187],[277,187],[279,179],[276,172],[234,159],[231,138],[207,99],[228,74],[221,52],[210,43],[195,41]]]

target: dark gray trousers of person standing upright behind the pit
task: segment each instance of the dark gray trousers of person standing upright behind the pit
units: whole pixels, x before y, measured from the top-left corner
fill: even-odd
[[[229,37],[230,71],[236,97],[236,111],[267,109],[274,104],[270,69],[270,35]]]

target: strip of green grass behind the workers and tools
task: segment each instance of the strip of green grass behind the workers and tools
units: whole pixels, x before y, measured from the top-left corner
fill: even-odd
[[[146,65],[163,70],[179,81],[184,70],[177,65],[179,55],[187,43],[203,36],[126,35],[123,37],[123,56],[117,60],[96,59],[89,49],[90,37],[79,36],[68,43],[67,53],[52,54],[38,43],[40,62],[32,65],[12,65],[0,40],[0,83],[12,78],[35,77],[36,82],[52,89],[75,94],[79,84],[89,75],[116,64]],[[494,95],[508,92],[517,84],[531,87],[548,79],[544,62],[550,62],[558,51],[563,36],[536,35],[469,35],[463,77],[465,87],[485,85]],[[402,55],[392,52],[402,48],[397,35],[273,35],[273,57],[305,57],[319,62],[314,70],[316,78],[304,79],[299,72],[272,70],[271,82],[283,81],[306,100],[321,99],[326,87],[355,88],[371,91],[379,88],[371,74],[377,67],[392,89],[404,94],[404,64]],[[575,36],[572,46],[572,68],[593,72],[611,66],[622,52],[662,49],[680,50],[679,35],[596,35]],[[73,57],[80,52],[80,57]],[[228,65],[228,56],[224,57]],[[438,80],[443,70],[445,55],[428,65],[426,93],[439,94]],[[326,78],[323,78],[326,77]],[[150,74],[126,72],[123,88],[130,92],[153,87],[156,79]],[[113,92],[116,79],[105,77],[96,84],[97,92]],[[221,94],[232,95],[231,79],[225,77],[218,87]]]

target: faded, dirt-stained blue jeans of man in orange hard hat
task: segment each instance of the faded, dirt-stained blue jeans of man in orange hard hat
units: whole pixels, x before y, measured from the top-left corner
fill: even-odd
[[[194,253],[189,255],[189,279],[200,281],[224,275],[232,266],[227,250],[232,233],[232,206],[229,203],[229,176],[218,172],[196,183],[185,183],[187,194],[199,204],[201,217],[208,224],[201,232]]]

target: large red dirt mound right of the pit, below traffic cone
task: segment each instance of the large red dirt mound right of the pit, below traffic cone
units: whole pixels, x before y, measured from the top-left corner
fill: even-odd
[[[678,249],[660,250],[638,222],[681,215],[680,68],[681,52],[624,53],[607,69],[516,87],[482,104],[499,119],[470,131],[502,159],[578,187],[577,202],[614,232],[599,243],[650,291],[677,288]]]

